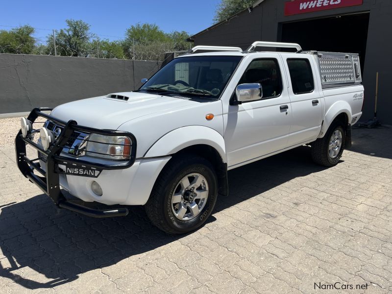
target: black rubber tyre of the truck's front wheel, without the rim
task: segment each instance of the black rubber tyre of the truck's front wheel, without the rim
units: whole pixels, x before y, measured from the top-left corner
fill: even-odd
[[[171,197],[178,182],[187,174],[197,172],[208,182],[208,198],[204,208],[192,220],[181,221],[172,213]],[[211,163],[194,154],[173,157],[159,174],[145,204],[148,218],[156,227],[169,234],[184,234],[196,230],[211,215],[218,196],[218,180]]]

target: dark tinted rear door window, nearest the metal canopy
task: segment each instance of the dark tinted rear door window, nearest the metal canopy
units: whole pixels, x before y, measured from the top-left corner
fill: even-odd
[[[308,59],[287,59],[294,94],[311,93],[315,89]]]

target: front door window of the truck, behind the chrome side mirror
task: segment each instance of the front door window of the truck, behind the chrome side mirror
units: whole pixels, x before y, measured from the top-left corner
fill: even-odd
[[[260,83],[263,99],[277,97],[282,93],[282,77],[279,64],[275,58],[252,60],[239,84]]]

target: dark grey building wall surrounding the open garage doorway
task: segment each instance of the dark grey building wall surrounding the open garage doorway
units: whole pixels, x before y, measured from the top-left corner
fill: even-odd
[[[370,12],[367,51],[363,84],[365,87],[364,114],[361,120],[373,117],[376,72],[379,72],[377,117],[381,123],[392,124],[392,97],[387,87],[392,80],[392,1],[363,0],[359,6],[336,8],[318,12],[284,16],[286,0],[265,0],[251,13],[244,11],[234,19],[195,36],[196,45],[239,46],[246,49],[252,42],[280,41],[281,23],[308,20],[355,12]],[[320,28],[322,30],[328,28]],[[342,27],[344,30],[344,27]],[[306,34],[305,32],[301,32]],[[349,33],[349,32],[347,32]],[[312,36],[309,36],[311,38]],[[333,42],[333,40],[331,40]],[[314,48],[317,50],[317,48]],[[271,49],[270,49],[271,50]],[[272,49],[273,50],[273,49]]]

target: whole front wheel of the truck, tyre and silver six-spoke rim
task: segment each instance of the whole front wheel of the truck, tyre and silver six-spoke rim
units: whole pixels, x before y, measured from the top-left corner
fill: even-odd
[[[158,176],[145,205],[147,216],[169,234],[193,231],[211,215],[217,187],[217,175],[209,161],[197,155],[179,155]]]

